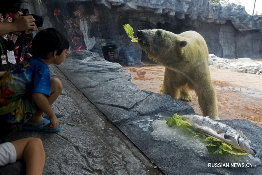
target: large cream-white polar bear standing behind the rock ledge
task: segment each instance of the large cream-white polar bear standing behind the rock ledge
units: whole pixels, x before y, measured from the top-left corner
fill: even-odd
[[[138,30],[137,37],[148,57],[165,66],[160,93],[191,101],[189,90],[195,90],[203,116],[219,120],[204,38],[196,31],[177,35],[162,29]]]

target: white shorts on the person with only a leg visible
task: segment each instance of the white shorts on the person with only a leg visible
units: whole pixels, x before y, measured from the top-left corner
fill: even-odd
[[[16,162],[14,145],[10,142],[0,144],[0,167],[14,162]]]

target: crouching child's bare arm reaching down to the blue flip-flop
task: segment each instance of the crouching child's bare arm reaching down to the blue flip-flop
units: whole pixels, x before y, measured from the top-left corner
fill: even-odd
[[[53,125],[52,129],[56,129],[58,127],[58,120],[47,97],[42,93],[33,93],[32,98],[38,108],[49,116],[50,123]]]

